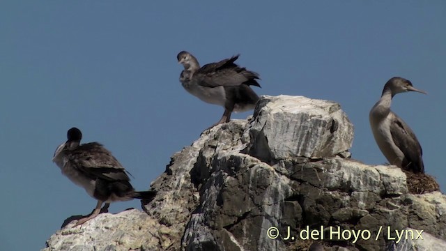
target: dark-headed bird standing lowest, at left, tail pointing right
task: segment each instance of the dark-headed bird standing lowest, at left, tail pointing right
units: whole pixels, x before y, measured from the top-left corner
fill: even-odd
[[[80,144],[82,132],[77,128],[68,130],[67,137],[68,140],[57,147],[53,162],[63,175],[98,200],[91,215],[78,220],[74,227],[98,216],[103,203],[102,211],[107,211],[113,201],[155,197],[155,191],[136,192],[129,182],[128,172],[102,144]]]

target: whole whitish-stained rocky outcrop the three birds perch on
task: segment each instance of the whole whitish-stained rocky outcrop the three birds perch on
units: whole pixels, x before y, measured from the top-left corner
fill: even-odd
[[[175,153],[144,212],[73,222],[44,250],[446,250],[445,195],[349,159],[352,140],[337,103],[264,96]]]

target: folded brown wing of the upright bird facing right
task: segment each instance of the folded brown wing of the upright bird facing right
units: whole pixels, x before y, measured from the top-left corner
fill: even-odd
[[[423,164],[423,151],[418,142],[415,133],[410,127],[394,114],[394,119],[390,123],[390,134],[392,135],[393,142],[403,152],[405,160],[403,160],[402,166],[404,169],[409,169],[414,173],[424,173]]]

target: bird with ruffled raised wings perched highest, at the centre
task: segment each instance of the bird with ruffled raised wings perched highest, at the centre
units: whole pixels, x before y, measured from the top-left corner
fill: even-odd
[[[236,65],[238,55],[201,68],[189,52],[180,52],[177,59],[185,69],[180,74],[184,89],[204,102],[224,107],[222,119],[213,126],[229,122],[232,112],[254,109],[259,96],[250,86],[260,87],[259,75]]]

